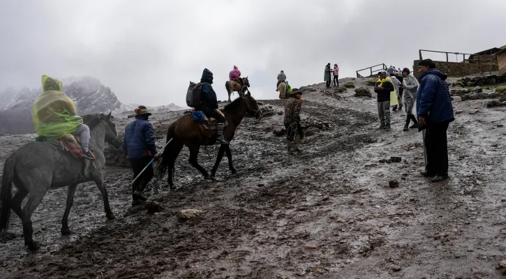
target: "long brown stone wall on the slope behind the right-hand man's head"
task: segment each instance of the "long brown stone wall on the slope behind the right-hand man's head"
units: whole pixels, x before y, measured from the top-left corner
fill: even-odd
[[[415,60],[413,63],[413,75],[419,77],[418,62]],[[436,68],[442,73],[447,73],[449,77],[464,77],[466,75],[484,74],[490,71],[496,72],[499,70],[498,64],[490,63],[459,63],[459,62],[446,62],[434,61]]]

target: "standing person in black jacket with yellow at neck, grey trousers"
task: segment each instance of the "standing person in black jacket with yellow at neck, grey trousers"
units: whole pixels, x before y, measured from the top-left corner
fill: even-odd
[[[390,130],[390,92],[395,91],[394,84],[387,73],[380,71],[380,80],[376,82],[374,92],[378,94],[378,116],[380,129]]]

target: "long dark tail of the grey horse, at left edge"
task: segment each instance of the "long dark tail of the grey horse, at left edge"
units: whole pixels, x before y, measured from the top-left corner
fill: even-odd
[[[3,165],[2,186],[0,190],[0,200],[2,201],[0,209],[0,233],[5,232],[9,226],[10,218],[10,200],[13,188],[14,167],[16,165],[15,156],[7,158]]]

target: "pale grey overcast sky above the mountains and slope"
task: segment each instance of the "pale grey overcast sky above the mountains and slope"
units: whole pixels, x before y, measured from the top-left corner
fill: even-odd
[[[204,68],[225,100],[234,65],[257,99],[378,63],[411,68],[418,50],[506,45],[505,0],[0,0],[0,90],[40,76],[89,75],[124,103],[186,105]],[[440,56],[443,59],[445,56]],[[450,56],[452,57],[452,56]],[[439,56],[425,54],[424,58]],[[237,96],[237,95],[236,95]]]

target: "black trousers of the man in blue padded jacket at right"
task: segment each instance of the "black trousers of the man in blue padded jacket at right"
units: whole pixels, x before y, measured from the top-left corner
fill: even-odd
[[[446,131],[449,121],[427,123],[425,147],[427,150],[426,170],[429,174],[448,174],[448,142]]]

